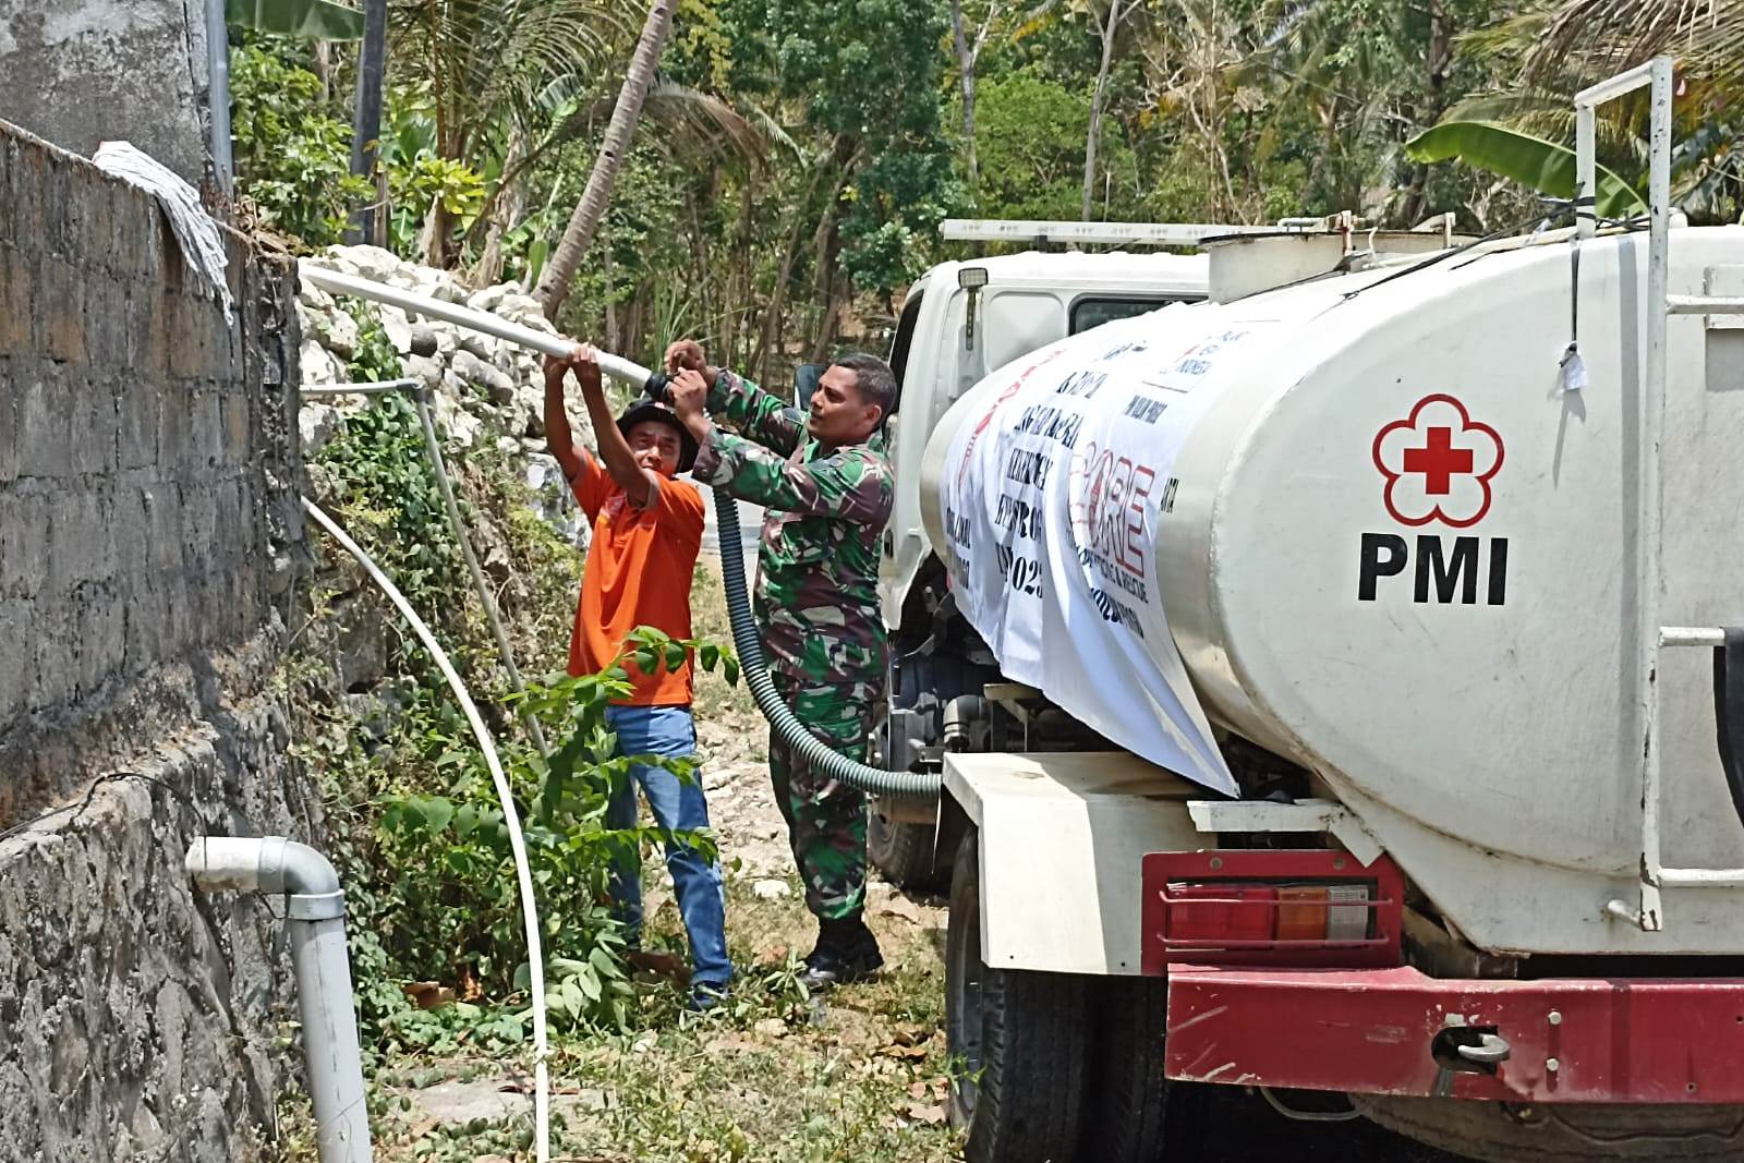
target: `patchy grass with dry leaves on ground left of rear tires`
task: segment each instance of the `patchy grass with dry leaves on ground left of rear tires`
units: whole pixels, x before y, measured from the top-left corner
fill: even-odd
[[[687,1015],[675,983],[644,980],[631,1029],[555,1041],[553,1158],[961,1158],[944,1119],[942,910],[900,907],[919,917],[914,922],[874,907],[886,973],[820,1006],[792,987],[790,969],[814,933],[797,893],[767,901],[748,882],[729,881],[727,908],[741,966],[731,1006]],[[682,952],[684,933],[670,905],[649,919],[649,945]],[[377,1078],[377,1158],[530,1158],[525,1114],[439,1125],[417,1102],[419,1088],[433,1081],[508,1079],[516,1071],[514,1060],[466,1055],[389,1064]]]

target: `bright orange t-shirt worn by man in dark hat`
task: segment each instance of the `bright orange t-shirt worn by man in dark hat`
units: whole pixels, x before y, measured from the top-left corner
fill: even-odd
[[[605,466],[582,450],[582,467],[570,488],[593,521],[593,544],[569,638],[569,673],[593,675],[610,666],[637,626],[689,638],[691,579],[703,547],[703,495],[696,485],[661,479],[654,502],[642,509],[630,502]],[[689,706],[689,657],[670,673],[664,663],[652,675],[644,675],[635,663],[626,663],[626,670],[635,690],[616,703]]]

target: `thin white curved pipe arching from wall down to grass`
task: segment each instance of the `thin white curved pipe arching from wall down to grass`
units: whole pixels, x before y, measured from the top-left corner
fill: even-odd
[[[497,746],[490,741],[490,732],[485,729],[485,720],[478,713],[478,706],[473,703],[473,696],[467,694],[466,684],[460,682],[460,675],[455,673],[453,663],[443,652],[441,643],[436,642],[436,635],[431,628],[424,624],[412,603],[406,602],[406,595],[399,593],[399,588],[387,579],[387,574],[370,558],[363,547],[345,535],[338,525],[333,523],[326,513],[323,513],[312,500],[303,497],[303,511],[312,516],[321,528],[324,528],[333,541],[345,547],[345,553],[358,558],[370,579],[387,595],[387,600],[394,603],[401,617],[417,633],[419,642],[424,649],[431,652],[436,659],[436,666],[441,670],[443,678],[448,680],[448,689],[453,692],[455,701],[466,713],[467,725],[473,727],[473,738],[478,739],[478,750],[485,755],[485,765],[490,769],[490,781],[497,788],[497,800],[502,804],[502,821],[509,830],[509,851],[514,854],[514,879],[520,886],[521,896],[521,924],[527,931],[527,975],[528,989],[532,992],[534,1004],[534,1146],[537,1151],[539,1163],[546,1163],[551,1158],[551,1078],[546,1069],[546,1004],[544,1004],[544,943],[539,940],[539,905],[534,900],[534,877],[527,865],[527,840],[521,837],[521,816],[514,809],[514,795],[509,790],[509,778],[502,774],[502,762],[497,758]],[[328,1163],[323,1160],[321,1163]]]

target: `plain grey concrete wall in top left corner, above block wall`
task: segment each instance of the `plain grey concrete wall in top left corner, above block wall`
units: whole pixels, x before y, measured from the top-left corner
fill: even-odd
[[[206,3],[0,0],[0,120],[85,157],[133,141],[199,187]]]

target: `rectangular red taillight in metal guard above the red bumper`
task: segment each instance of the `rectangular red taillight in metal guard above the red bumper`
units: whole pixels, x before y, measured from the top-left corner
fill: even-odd
[[[1144,858],[1142,969],[1200,964],[1399,964],[1402,879],[1385,856],[1334,851]]]

